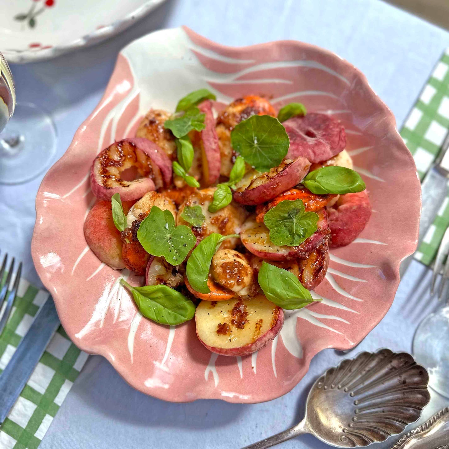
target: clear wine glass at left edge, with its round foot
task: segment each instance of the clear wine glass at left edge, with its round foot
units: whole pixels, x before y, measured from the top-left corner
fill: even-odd
[[[0,183],[34,178],[48,167],[55,152],[53,120],[34,104],[16,104],[13,76],[0,53]]]

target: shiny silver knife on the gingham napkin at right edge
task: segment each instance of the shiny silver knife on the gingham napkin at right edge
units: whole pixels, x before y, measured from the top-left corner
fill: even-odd
[[[449,178],[449,132],[446,134],[440,154],[435,163],[427,172],[421,183],[422,203],[421,218],[419,219],[418,247],[432,225],[438,210],[448,194]],[[409,267],[414,255],[406,257],[399,270],[401,277]]]

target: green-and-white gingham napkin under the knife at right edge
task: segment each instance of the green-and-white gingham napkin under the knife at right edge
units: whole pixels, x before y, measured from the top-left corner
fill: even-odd
[[[401,129],[401,136],[413,154],[421,180],[436,159],[448,129],[449,49],[446,49]],[[449,198],[445,198],[415,253],[416,259],[423,264],[431,264],[448,225]]]

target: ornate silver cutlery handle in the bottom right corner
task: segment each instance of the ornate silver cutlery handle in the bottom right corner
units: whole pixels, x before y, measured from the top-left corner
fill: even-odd
[[[449,407],[408,431],[390,449],[449,449]]]

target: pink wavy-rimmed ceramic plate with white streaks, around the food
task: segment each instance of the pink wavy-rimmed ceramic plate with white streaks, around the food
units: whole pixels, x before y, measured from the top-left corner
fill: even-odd
[[[133,136],[150,107],[174,110],[202,87],[225,103],[262,94],[276,107],[300,101],[341,119],[373,206],[360,237],[331,252],[326,280],[314,293],[323,300],[287,311],[278,337],[248,357],[209,352],[194,321],[175,328],[143,318],[118,283],[129,272],[100,263],[84,240],[84,218],[95,202],[88,176],[95,155]],[[45,176],[36,209],[36,269],[79,348],[103,355],[133,387],[167,401],[260,402],[290,391],[321,349],[359,343],[387,313],[399,264],[416,247],[420,185],[392,113],[348,62],[301,42],[231,48],[179,28],[144,36],[119,54],[100,104]]]

